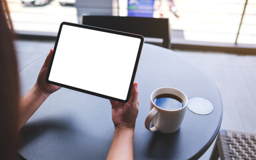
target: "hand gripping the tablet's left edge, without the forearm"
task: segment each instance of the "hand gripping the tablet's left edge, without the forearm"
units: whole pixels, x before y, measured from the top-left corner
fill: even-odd
[[[50,53],[47,55],[45,59],[45,63],[43,63],[43,67],[37,77],[37,82],[35,83],[34,87],[37,87],[42,93],[44,93],[47,97],[51,95],[51,93],[59,90],[61,87],[57,85],[52,85],[47,83],[46,75],[49,69],[49,65],[51,63],[51,57],[53,56],[53,49],[50,50]]]

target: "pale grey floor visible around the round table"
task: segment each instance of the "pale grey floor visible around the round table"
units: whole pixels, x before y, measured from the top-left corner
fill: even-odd
[[[53,41],[16,41],[19,71],[53,48]],[[223,100],[221,129],[256,133],[256,56],[175,51],[190,59],[215,81]],[[209,159],[212,147],[201,157]]]

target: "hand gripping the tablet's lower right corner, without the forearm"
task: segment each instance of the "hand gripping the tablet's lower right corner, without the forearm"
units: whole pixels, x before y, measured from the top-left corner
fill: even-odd
[[[135,122],[139,112],[138,83],[133,83],[131,97],[127,103],[111,101],[112,120],[115,129],[119,127],[135,128]]]

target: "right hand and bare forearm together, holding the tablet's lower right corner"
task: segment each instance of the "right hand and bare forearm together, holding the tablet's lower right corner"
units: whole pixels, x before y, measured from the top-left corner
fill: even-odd
[[[138,83],[133,83],[131,98],[127,103],[111,101],[115,131],[107,160],[133,159],[133,137],[139,112]]]

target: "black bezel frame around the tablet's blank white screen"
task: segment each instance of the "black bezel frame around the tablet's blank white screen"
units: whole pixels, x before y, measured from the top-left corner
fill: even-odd
[[[59,37],[61,35],[61,29],[62,29],[63,25],[69,25],[69,26],[80,27],[80,28],[85,28],[85,29],[92,29],[92,30],[95,30],[95,31],[103,31],[103,32],[107,32],[107,33],[114,33],[114,34],[117,34],[117,35],[125,35],[125,36],[129,36],[129,37],[135,37],[135,38],[141,39],[141,43],[139,44],[139,49],[138,49],[138,52],[137,52],[137,57],[136,57],[135,65],[133,67],[133,75],[131,76],[131,81],[130,81],[130,85],[129,85],[129,91],[127,93],[127,97],[126,97],[125,100],[118,99],[118,98],[115,98],[115,97],[110,97],[110,96],[103,95],[103,94],[100,94],[100,93],[95,93],[95,92],[92,92],[92,91],[87,91],[87,90],[84,90],[84,89],[79,89],[77,87],[71,87],[69,85],[65,85],[65,84],[62,84],[62,83],[57,83],[55,81],[50,81],[49,80],[49,75],[50,75],[50,72],[51,72],[51,67],[53,65],[53,59],[55,57],[55,51],[57,49],[57,45],[58,45],[58,42],[59,42]],[[122,32],[122,31],[115,31],[115,30],[111,30],[111,29],[103,29],[103,28],[100,28],[100,27],[93,27],[93,26],[89,26],[89,25],[79,25],[79,24],[75,24],[75,23],[63,22],[63,23],[61,23],[61,25],[59,27],[59,32],[58,32],[57,39],[55,41],[55,46],[54,46],[54,49],[53,49],[53,57],[51,57],[51,63],[49,65],[49,69],[48,69],[48,72],[47,72],[46,81],[48,83],[53,84],[53,85],[58,85],[58,86],[65,87],[65,88],[68,88],[68,89],[73,89],[75,91],[80,91],[80,92],[83,92],[83,93],[88,93],[90,95],[95,95],[97,97],[103,97],[105,99],[111,99],[111,100],[114,100],[114,101],[119,101],[121,103],[126,103],[127,101],[129,101],[129,98],[131,96],[131,90],[132,90],[132,87],[133,87],[133,82],[134,82],[134,79],[135,79],[135,74],[136,74],[137,67],[138,67],[138,64],[139,64],[139,58],[140,58],[140,55],[141,55],[141,50],[142,50],[143,43],[144,43],[144,38],[143,38],[142,35],[137,35],[137,34],[133,34],[133,33],[125,33],[125,32]]]

